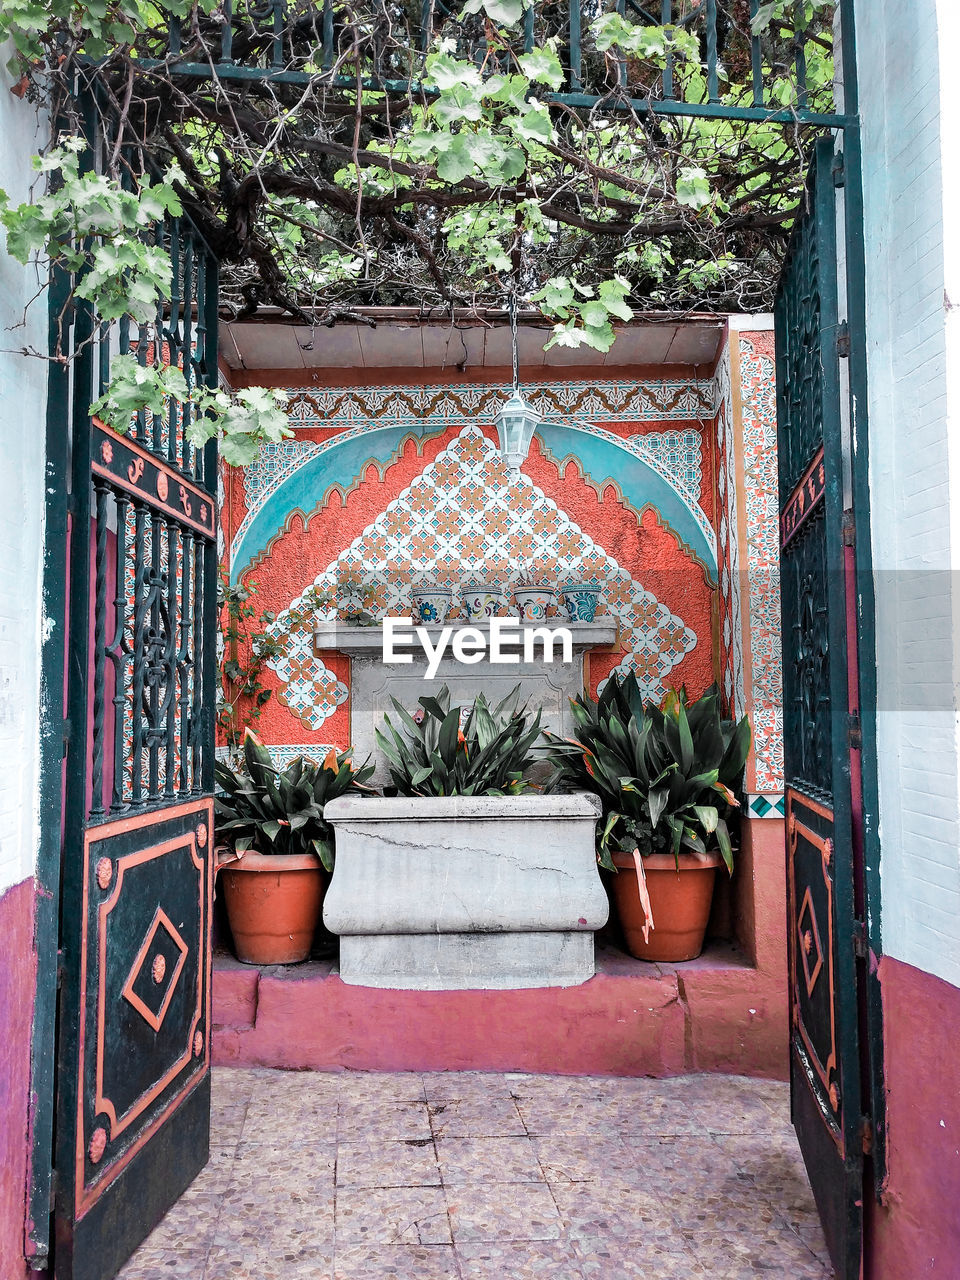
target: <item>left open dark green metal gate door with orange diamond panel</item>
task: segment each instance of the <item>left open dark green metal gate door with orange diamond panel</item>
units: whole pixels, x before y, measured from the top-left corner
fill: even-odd
[[[216,264],[186,221],[157,236],[160,340],[120,347],[210,384]],[[108,1280],[209,1156],[216,447],[175,408],[91,422],[76,325],[54,1275]]]

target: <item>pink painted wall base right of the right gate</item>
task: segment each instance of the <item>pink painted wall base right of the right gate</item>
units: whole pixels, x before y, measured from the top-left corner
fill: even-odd
[[[867,1280],[960,1276],[960,989],[884,956],[887,1187]]]

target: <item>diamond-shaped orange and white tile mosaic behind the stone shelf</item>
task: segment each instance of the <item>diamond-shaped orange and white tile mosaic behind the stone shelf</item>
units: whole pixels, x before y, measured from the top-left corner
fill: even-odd
[[[596,580],[600,609],[621,626],[623,658],[646,695],[659,699],[669,672],[698,643],[696,634],[596,545],[525,475],[511,474],[494,444],[465,426],[311,585],[334,588],[346,577],[371,585],[378,616],[406,614],[410,585],[429,579],[454,589],[472,579],[502,584],[527,579]],[[284,654],[270,666],[283,684],[280,700],[311,730],[347,696],[312,657],[310,623],[289,626],[292,600],[274,623]],[[323,617],[323,613],[320,614]],[[333,617],[333,611],[329,611]]]

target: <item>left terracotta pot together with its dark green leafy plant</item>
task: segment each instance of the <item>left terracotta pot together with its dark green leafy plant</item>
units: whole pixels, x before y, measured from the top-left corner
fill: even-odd
[[[334,865],[328,800],[365,791],[372,765],[332,750],[321,764],[297,756],[278,769],[252,730],[243,765],[216,763],[216,835],[229,846],[220,863],[227,916],[244,964],[296,964],[310,954],[326,874]]]

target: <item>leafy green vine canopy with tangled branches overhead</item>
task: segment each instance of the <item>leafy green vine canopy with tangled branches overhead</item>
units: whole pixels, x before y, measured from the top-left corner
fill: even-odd
[[[746,26],[741,10],[718,5],[721,102],[753,106],[753,32],[773,108],[832,110],[831,0],[762,4]],[[575,100],[563,5],[467,0],[421,32],[419,4],[361,0],[334,6],[333,45],[320,5],[289,6],[279,37],[269,6],[230,13],[229,65],[262,74],[219,74],[215,0],[0,6],[15,91],[67,122],[33,198],[0,192],[8,251],[65,273],[69,301],[99,320],[146,326],[141,347],[170,294],[156,228],[184,211],[223,264],[232,316],[270,305],[315,326],[358,305],[462,315],[512,298],[545,317],[548,346],[608,351],[616,323],[644,310],[769,305],[813,131],[652,114],[667,79],[678,102],[707,102],[703,4],[672,0],[659,24],[584,9]],[[78,81],[96,87],[95,152]],[[96,412],[125,430],[177,402],[189,439],[215,435],[236,465],[287,434],[273,392],[228,397],[189,378],[122,357]]]

